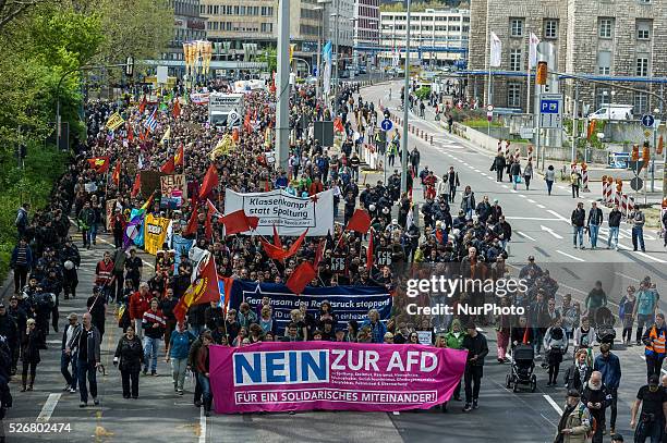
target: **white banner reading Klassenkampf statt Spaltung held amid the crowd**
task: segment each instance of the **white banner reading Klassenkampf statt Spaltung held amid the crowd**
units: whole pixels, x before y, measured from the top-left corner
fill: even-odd
[[[333,233],[333,189],[301,198],[286,190],[240,194],[225,193],[225,216],[243,209],[245,216],[259,218],[256,234],[272,235],[274,225],[280,235],[308,236]],[[245,232],[244,234],[251,234]]]

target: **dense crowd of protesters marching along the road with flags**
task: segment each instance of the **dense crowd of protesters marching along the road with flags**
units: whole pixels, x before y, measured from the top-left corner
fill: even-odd
[[[227,90],[227,85],[209,84],[207,90]],[[275,127],[271,93],[247,94],[252,113],[233,131],[210,125],[206,107],[185,100],[181,86],[167,93],[158,98],[160,103],[148,102],[146,95],[128,95],[126,100],[119,102],[88,103],[88,140],[76,148],[66,172],[53,187],[50,205],[31,208],[26,204],[20,208],[17,242],[12,253],[14,291],[7,305],[0,304],[3,415],[11,407],[12,395],[22,395],[15,391],[32,391],[39,384],[45,364],[40,350],[47,348],[47,336],[52,334],[62,335],[58,339],[63,391],[72,396],[78,394],[82,408],[104,402],[97,374],[110,369],[102,366],[100,345],[108,329],[116,327],[122,335],[112,349],[113,365],[121,372],[124,398],[142,395],[143,377],[161,376],[158,358],[163,357],[171,366],[166,380],[173,384],[174,395],[185,394],[184,380],[194,374],[193,404],[203,407],[207,416],[216,402],[209,378],[211,344],[245,346],[259,341],[317,340],[402,344],[416,343],[417,331],[432,331],[435,346],[469,352],[462,378],[462,408],[472,413],[481,407],[481,384],[490,350],[482,328],[493,327],[499,365],[510,361],[518,365],[516,349],[527,347],[535,359],[542,359],[549,379],[547,386],[560,384],[567,390],[567,405],[555,442],[596,443],[607,433],[611,441],[622,441],[615,435],[621,383],[619,358],[601,334],[605,328],[601,313],[610,312],[603,282],[591,290],[583,305],[573,300],[571,294],[557,296],[559,283],[532,256],[518,272],[527,282],[525,291],[518,290],[498,300],[525,308],[522,316],[457,315],[435,328],[436,322],[429,317],[398,320],[401,308],[397,300],[396,316],[389,321],[380,320],[378,312],[371,310],[363,322],[345,322],[338,319],[330,304],[322,303],[317,312],[307,310],[305,305],[292,311],[291,321],[280,330],[268,297],[257,311],[245,303],[238,309],[225,309],[211,302],[190,306],[186,316],[179,315],[193,273],[198,271],[197,263],[205,255],[215,259],[217,274],[226,279],[286,284],[299,273],[300,264],[314,260],[316,275],[304,285],[385,286],[395,291],[402,279],[400,267],[405,264],[457,263],[457,270],[469,276],[483,267],[493,279],[509,275],[511,269],[506,259],[513,232],[506,219],[507,208],[498,198],[475,195],[454,165],[438,177],[428,165],[420,164],[416,146],[411,149],[398,133],[389,140],[387,152],[392,165],[395,156],[400,158],[401,150],[408,149],[408,192],[401,192],[398,170],[386,181],[366,183],[361,173],[361,146],[374,140],[380,109],[364,100],[364,90],[359,86],[340,90],[338,115],[331,115],[331,103],[315,98],[314,87],[295,87],[290,101],[294,137],[287,169],[275,167],[271,155],[270,134]],[[441,107],[441,99],[432,98],[429,102],[438,103]],[[424,108],[421,102],[422,115]],[[106,122],[117,111],[124,115],[125,124],[110,132]],[[310,125],[314,120],[331,118],[340,139],[338,147],[323,146]],[[445,118],[450,120],[449,114]],[[492,169],[498,182],[502,182],[507,171],[514,189],[519,183],[527,188],[533,179],[530,162],[522,167],[520,159],[501,152]],[[183,195],[189,198],[183,197],[174,206],[160,199],[159,192],[145,193],[147,184],[142,183],[145,171],[184,174]],[[554,180],[554,174],[547,172],[549,195]],[[419,187],[424,202],[417,211],[414,199]],[[336,232],[328,236],[304,239],[276,235],[276,243],[284,245],[280,248],[291,251],[283,261],[269,259],[260,236],[230,235],[222,217],[227,189],[262,193],[278,188],[305,198],[333,189],[337,220]],[[578,186],[572,184],[573,196]],[[114,202],[109,205],[110,201]],[[571,216],[573,244],[583,249],[586,231],[591,248],[595,249],[605,218],[596,204],[589,211],[583,205],[579,202]],[[366,226],[351,229],[360,213],[366,214]],[[132,226],[137,214],[171,221],[170,242],[159,245],[154,259],[146,259],[134,245]],[[618,249],[621,219],[618,207],[606,219],[610,233],[606,246]],[[636,209],[629,219],[634,250],[639,247],[643,251],[644,216]],[[101,234],[107,232],[113,238],[112,248],[101,246]],[[178,244],[173,241],[177,237]],[[95,251],[99,260],[90,294],[76,292],[78,270],[92,266],[82,261],[80,248]],[[385,250],[390,251],[389,258],[380,257],[379,253]],[[339,269],[333,258],[341,254],[344,267]],[[85,306],[82,302],[76,312],[62,313],[61,297],[81,297]],[[478,305],[485,298],[488,300],[488,295],[454,295],[457,303]],[[639,288],[628,287],[618,312],[623,343],[643,346],[646,359],[647,384],[639,389],[632,407],[634,441],[639,442],[647,438],[653,443],[660,441],[667,423],[667,391],[663,387],[666,381],[658,380],[667,327],[658,310],[658,299],[655,284],[645,278]],[[598,344],[598,354],[594,355]],[[560,365],[570,357],[571,366],[561,373]],[[19,361],[21,376],[12,379],[19,372]],[[460,389],[461,383],[453,401],[462,399]],[[441,410],[447,411],[447,403]]]

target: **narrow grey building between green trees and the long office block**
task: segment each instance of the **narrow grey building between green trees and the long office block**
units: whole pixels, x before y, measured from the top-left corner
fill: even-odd
[[[206,39],[206,21],[199,15],[199,0],[173,0],[173,38],[162,60],[183,60],[183,42]],[[185,67],[181,71],[184,71]],[[170,67],[170,75],[180,75]]]

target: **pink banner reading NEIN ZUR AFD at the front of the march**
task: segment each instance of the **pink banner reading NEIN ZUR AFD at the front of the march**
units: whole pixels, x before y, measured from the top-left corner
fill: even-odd
[[[344,342],[211,345],[215,410],[427,409],[451,397],[466,354],[424,345]]]

